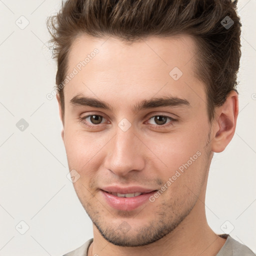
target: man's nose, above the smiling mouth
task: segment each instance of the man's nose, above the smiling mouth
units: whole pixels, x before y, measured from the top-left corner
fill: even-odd
[[[130,171],[140,171],[144,168],[142,148],[143,143],[130,127],[123,131],[117,127],[116,134],[106,148],[105,168],[118,176],[125,176]]]

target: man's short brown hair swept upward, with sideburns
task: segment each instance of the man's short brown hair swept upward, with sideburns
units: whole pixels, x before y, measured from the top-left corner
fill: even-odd
[[[229,28],[223,25],[227,19],[229,24],[233,22]],[[214,108],[224,103],[231,90],[236,91],[241,56],[236,1],[66,0],[46,24],[52,55],[57,59],[56,89],[62,117],[68,53],[73,40],[82,33],[127,42],[150,35],[191,35],[197,46],[195,75],[206,85],[209,121],[214,117]]]

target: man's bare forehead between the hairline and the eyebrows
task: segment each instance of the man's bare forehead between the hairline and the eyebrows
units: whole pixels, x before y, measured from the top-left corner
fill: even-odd
[[[64,95],[67,101],[79,93],[105,99],[118,95],[128,101],[168,93],[201,101],[204,86],[195,77],[195,54],[195,41],[188,35],[132,43],[80,35],[68,55],[67,75],[75,74]]]

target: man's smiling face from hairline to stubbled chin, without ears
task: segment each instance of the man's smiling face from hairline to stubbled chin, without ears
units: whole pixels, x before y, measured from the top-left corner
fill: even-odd
[[[82,35],[71,47],[62,138],[77,196],[113,244],[160,239],[203,189],[210,125],[194,43],[185,35],[132,44]]]

